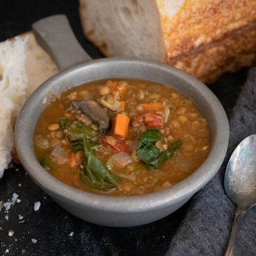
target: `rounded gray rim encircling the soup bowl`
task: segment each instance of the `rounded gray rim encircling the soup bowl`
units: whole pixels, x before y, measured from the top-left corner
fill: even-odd
[[[169,74],[172,74],[174,77],[178,77],[181,80],[186,81],[190,84],[191,90],[196,90],[197,93],[201,94],[202,97],[207,98],[207,101],[211,105],[211,108],[214,109],[214,128],[216,129],[215,138],[211,141],[210,152],[204,161],[204,163],[191,175],[181,182],[171,186],[170,188],[148,193],[145,195],[138,196],[108,196],[108,195],[99,195],[93,194],[86,191],[82,191],[76,188],[73,188],[50,175],[44,168],[41,167],[38,160],[34,155],[33,148],[33,136],[34,129],[29,127],[31,123],[31,116],[35,116],[34,105],[41,104],[41,101],[38,101],[39,98],[42,98],[51,91],[51,86],[53,82],[59,78],[66,79],[70,74],[75,75],[77,72],[81,72],[82,69],[93,67],[95,65],[100,66],[100,63],[105,66],[106,63],[112,63],[115,65],[139,65],[143,68],[151,67],[158,68],[159,71],[165,71]],[[96,66],[95,66],[96,67]],[[93,67],[93,68],[95,68]],[[98,67],[97,69],[99,69]],[[120,78],[126,78],[125,76],[120,75]],[[113,78],[113,77],[112,77]],[[128,78],[128,77],[127,77]],[[133,77],[130,77],[133,78]],[[99,78],[98,80],[103,79]],[[108,79],[108,77],[105,77]],[[111,79],[111,78],[109,78]],[[147,80],[147,79],[144,79]],[[152,79],[148,79],[152,80]],[[94,81],[96,81],[94,79]],[[90,82],[86,81],[86,82]],[[85,83],[86,83],[85,82]],[[78,86],[77,84],[76,86]],[[170,87],[172,87],[169,84]],[[72,86],[75,87],[75,86]],[[66,91],[62,90],[63,91]],[[176,91],[179,91],[175,88]],[[181,94],[184,92],[179,91]],[[197,104],[196,99],[192,99],[194,103]],[[201,109],[202,111],[202,109]],[[37,114],[37,118],[39,117]],[[34,120],[37,123],[37,118]],[[206,118],[207,119],[207,118]],[[207,120],[208,121],[208,120]],[[210,129],[211,130],[211,129]],[[212,133],[212,130],[211,130]],[[220,168],[226,151],[229,138],[229,125],[228,120],[217,97],[212,93],[202,82],[198,79],[184,73],[181,70],[170,67],[168,65],[157,63],[154,61],[145,61],[137,59],[120,59],[120,58],[104,58],[92,60],[90,62],[72,67],[68,70],[57,73],[53,77],[49,78],[47,81],[42,83],[29,97],[25,102],[22,110],[20,111],[16,126],[15,126],[15,144],[17,148],[17,153],[20,161],[23,166],[33,179],[33,181],[42,189],[50,191],[51,196],[54,194],[54,197],[62,197],[63,200],[71,200],[77,204],[86,205],[89,208],[97,208],[101,211],[114,211],[114,212],[144,212],[156,207],[163,207],[175,204],[182,200],[186,200],[189,197],[193,196],[200,188],[207,184],[218,172]]]

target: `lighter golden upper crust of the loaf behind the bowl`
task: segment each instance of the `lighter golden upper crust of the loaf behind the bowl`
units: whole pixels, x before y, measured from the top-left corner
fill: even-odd
[[[256,0],[185,0],[169,16],[164,0],[156,0],[169,58],[221,40],[256,20]]]

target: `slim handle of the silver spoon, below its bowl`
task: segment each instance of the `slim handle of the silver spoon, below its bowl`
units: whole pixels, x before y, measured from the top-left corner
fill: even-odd
[[[225,252],[225,256],[234,255],[234,249],[236,247],[238,232],[241,228],[242,221],[245,214],[246,214],[246,210],[237,208],[236,213],[234,214],[234,220],[233,220],[231,234],[230,234],[229,243]]]

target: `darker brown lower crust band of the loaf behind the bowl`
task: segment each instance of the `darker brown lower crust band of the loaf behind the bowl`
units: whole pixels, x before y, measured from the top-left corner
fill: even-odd
[[[222,73],[236,72],[255,60],[256,22],[229,33],[217,42],[169,59],[168,63],[210,83]]]

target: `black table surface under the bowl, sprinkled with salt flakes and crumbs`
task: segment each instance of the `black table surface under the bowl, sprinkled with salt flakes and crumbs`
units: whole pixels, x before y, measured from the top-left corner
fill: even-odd
[[[73,0],[1,0],[0,41],[29,31],[36,20],[58,13],[68,16],[84,49],[93,58],[102,57],[84,37],[78,1]],[[236,74],[225,74],[210,85],[228,116],[247,71],[243,69]],[[35,185],[20,165],[10,167],[0,180],[0,201],[7,202],[13,193],[21,202],[12,205],[8,213],[5,208],[0,211],[1,255],[164,255],[189,204],[187,202],[172,215],[151,224],[110,228],[81,221],[69,214]],[[37,201],[41,206],[34,211]],[[25,222],[20,223],[19,215]],[[9,230],[14,231],[13,237],[8,236]],[[71,232],[74,232],[73,236],[70,236]],[[37,242],[33,243],[31,239]]]

